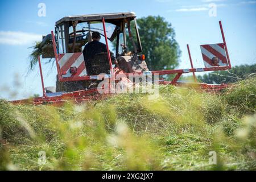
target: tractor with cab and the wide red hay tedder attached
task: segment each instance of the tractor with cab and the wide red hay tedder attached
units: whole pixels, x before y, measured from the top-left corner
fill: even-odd
[[[189,46],[187,45],[191,68],[173,69],[162,71],[149,71],[142,53],[141,40],[135,19],[135,13],[113,13],[113,14],[93,14],[81,16],[67,16],[56,22],[55,34],[44,36],[42,41],[43,58],[55,58],[57,67],[56,89],[44,88],[44,80],[40,57],[38,57],[40,77],[42,81],[43,96],[31,98],[27,100],[11,101],[14,104],[61,104],[65,101],[74,101],[80,103],[82,101],[97,100],[109,96],[111,86],[104,93],[99,93],[97,88],[86,86],[86,82],[106,79],[114,80],[117,84],[120,80],[134,84],[133,80],[129,80],[129,76],[154,76],[176,74],[172,81],[159,80],[159,84],[172,84],[176,86],[196,86],[202,90],[216,92],[224,89],[227,85],[222,84],[205,84],[196,80],[196,72],[221,71],[231,69],[228,48],[226,46],[224,31],[220,23],[220,30],[223,43],[201,45],[203,55],[204,68],[193,68],[193,62]],[[133,24],[133,27],[131,27]],[[82,46],[92,41],[92,32],[98,31],[105,38],[107,52],[100,55],[100,59],[94,60],[94,66],[105,69],[104,76],[89,75],[91,71],[86,69]],[[135,34],[136,40],[134,40]],[[128,34],[128,35],[126,35]],[[129,39],[126,40],[126,36]],[[112,64],[110,57],[109,44],[116,42],[115,57],[117,64]],[[133,45],[133,50],[127,49],[127,41]],[[48,50],[48,51],[47,51]],[[102,57],[103,56],[103,57]],[[102,64],[102,60],[107,63]],[[97,64],[98,63],[98,64]],[[103,69],[103,70],[104,70]],[[102,69],[101,69],[102,71]],[[185,83],[178,82],[181,75],[185,73],[193,73],[195,82]],[[68,85],[68,86],[67,86]],[[76,85],[76,86],[74,86]],[[80,87],[77,87],[80,85]]]

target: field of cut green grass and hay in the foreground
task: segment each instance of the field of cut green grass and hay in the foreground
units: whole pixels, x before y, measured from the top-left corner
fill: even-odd
[[[62,107],[2,100],[0,169],[256,170],[255,93],[253,77],[216,94],[160,86],[156,100],[118,94]]]

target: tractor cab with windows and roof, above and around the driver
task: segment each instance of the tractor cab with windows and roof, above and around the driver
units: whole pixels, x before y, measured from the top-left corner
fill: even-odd
[[[134,45],[133,50],[130,51],[142,52],[135,17],[135,13],[114,13],[61,18],[55,26],[57,51],[59,53],[82,52],[82,46],[92,41],[93,31],[99,32],[104,38],[104,27],[102,26],[102,18],[104,18],[106,36],[112,43],[112,49],[115,49],[116,57],[127,51],[127,36],[131,38],[131,44]],[[101,40],[105,42],[104,39]]]

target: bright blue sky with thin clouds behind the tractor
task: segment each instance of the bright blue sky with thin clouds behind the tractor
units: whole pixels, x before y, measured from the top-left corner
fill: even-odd
[[[39,3],[45,3],[46,16],[38,16]],[[211,3],[217,7],[217,16],[209,16]],[[190,67],[187,43],[194,66],[203,67],[199,45],[222,42],[218,20],[222,20],[232,65],[256,63],[254,0],[1,1],[0,98],[14,100],[42,94],[38,69],[27,73],[28,47],[49,34],[57,20],[67,15],[123,11],[134,11],[138,18],[160,15],[172,23],[182,51],[179,68]],[[55,65],[46,62],[43,60],[45,86],[54,86]]]

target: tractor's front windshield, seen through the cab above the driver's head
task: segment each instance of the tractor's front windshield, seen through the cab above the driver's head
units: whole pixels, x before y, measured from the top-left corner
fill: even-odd
[[[110,39],[115,31],[115,28],[117,26],[115,26],[112,23],[105,23],[106,26],[106,35],[107,37]],[[101,35],[104,35],[104,30],[103,30],[103,26],[102,26],[102,22],[82,22],[77,24],[76,26],[76,31],[77,32],[82,32],[83,34],[85,34],[85,32],[88,31],[97,31],[99,32]],[[69,35],[73,34],[73,27],[69,27]]]

